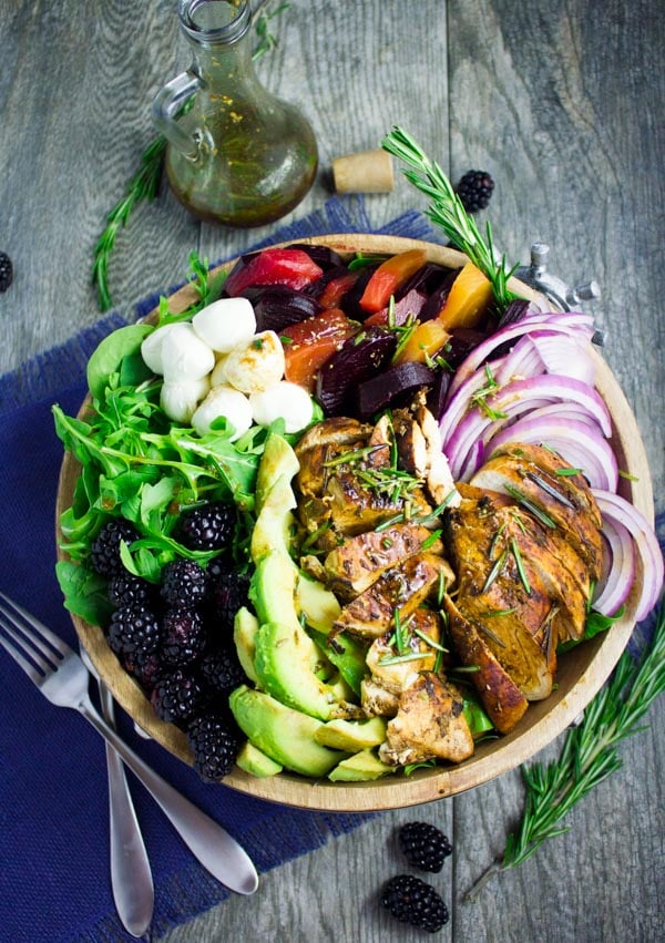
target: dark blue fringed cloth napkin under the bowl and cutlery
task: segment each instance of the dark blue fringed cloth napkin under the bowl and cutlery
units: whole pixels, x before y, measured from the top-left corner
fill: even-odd
[[[269,242],[344,232],[372,232],[362,199],[334,198],[320,212],[276,232]],[[417,213],[379,232],[436,240]],[[136,317],[155,301],[156,297],[146,299]],[[54,576],[54,502],[62,447],[53,432],[51,404],[75,413],[85,393],[88,357],[122,324],[111,315],[0,378],[0,588],[72,646],[75,634]],[[3,650],[0,707],[0,939],[131,940],[111,896],[102,740],[75,711],[49,704]],[[119,726],[147,762],[242,842],[259,871],[304,854],[367,818],[289,809],[224,786],[204,785],[156,744],[136,737],[126,717],[119,719]],[[132,790],[153,867],[153,932],[158,935],[228,892],[192,858],[142,787],[133,781]]]

